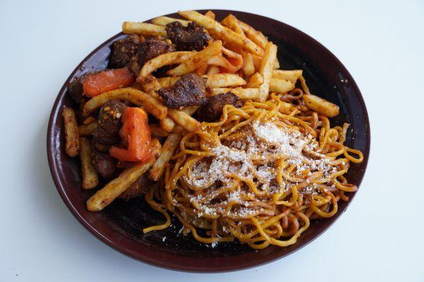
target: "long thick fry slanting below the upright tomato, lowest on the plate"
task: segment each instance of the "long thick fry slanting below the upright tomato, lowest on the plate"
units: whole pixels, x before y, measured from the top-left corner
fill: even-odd
[[[157,155],[160,154],[160,142],[157,139],[152,140],[153,157],[145,164],[137,164],[126,168],[117,178],[107,183],[104,188],[95,192],[87,201],[87,209],[90,212],[99,212],[119,195],[122,194],[129,186],[134,183],[155,163]]]

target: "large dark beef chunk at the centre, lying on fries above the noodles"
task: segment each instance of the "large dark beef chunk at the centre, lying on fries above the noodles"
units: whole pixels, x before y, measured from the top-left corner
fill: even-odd
[[[163,104],[170,108],[206,104],[205,92],[205,79],[194,73],[183,75],[173,87],[158,91]]]

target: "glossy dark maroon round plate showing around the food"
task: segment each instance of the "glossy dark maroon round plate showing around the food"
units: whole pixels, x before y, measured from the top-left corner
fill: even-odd
[[[232,13],[261,30],[278,45],[281,69],[302,69],[312,93],[340,106],[341,114],[333,118],[331,124],[351,124],[347,145],[360,149],[364,161],[353,164],[347,178],[359,186],[370,150],[370,124],[363,97],[343,64],[322,44],[290,25],[252,13],[227,10],[213,10],[213,13],[218,20]],[[167,16],[178,17],[177,14]],[[337,214],[330,219],[312,221],[294,245],[270,246],[259,251],[239,243],[220,243],[214,248],[200,244],[192,236],[179,233],[181,225],[175,219],[168,230],[143,234],[143,227],[163,222],[163,217],[142,197],[129,202],[115,200],[102,212],[88,212],[86,200],[94,191],[81,189],[79,159],[68,157],[64,151],[64,123],[60,112],[64,106],[74,106],[66,95],[67,83],[88,71],[105,69],[112,42],[122,37],[124,35],[119,33],[101,44],[69,75],[54,102],[47,130],[47,157],[57,190],[76,219],[93,235],[115,250],[148,264],[182,271],[231,271],[272,262],[299,250],[322,234],[346,210],[355,193],[348,193],[349,202],[339,202]]]

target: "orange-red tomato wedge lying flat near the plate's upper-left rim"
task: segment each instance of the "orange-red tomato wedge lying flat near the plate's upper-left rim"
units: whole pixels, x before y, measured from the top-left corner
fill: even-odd
[[[83,89],[88,97],[94,97],[110,90],[127,87],[135,80],[128,68],[117,68],[88,76],[83,83]]]

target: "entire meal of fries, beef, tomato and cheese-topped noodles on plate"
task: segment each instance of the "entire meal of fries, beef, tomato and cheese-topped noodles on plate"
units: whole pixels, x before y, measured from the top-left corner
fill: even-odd
[[[69,157],[81,159],[87,209],[134,197],[215,247],[296,243],[310,221],[334,216],[362,152],[344,145],[339,108],[311,93],[302,70],[281,70],[278,47],[233,15],[179,12],[125,22],[107,69],[68,85]],[[281,58],[284,59],[284,58]]]

